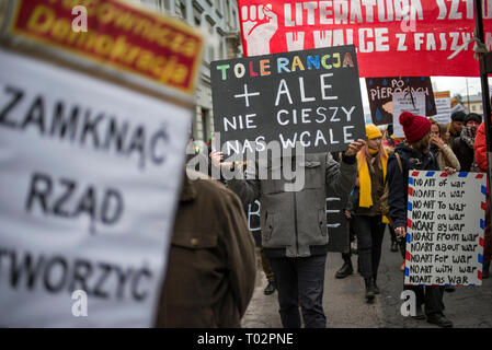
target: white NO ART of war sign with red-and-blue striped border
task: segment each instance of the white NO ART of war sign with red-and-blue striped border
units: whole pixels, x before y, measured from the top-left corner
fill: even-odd
[[[485,177],[410,171],[405,284],[482,284]]]

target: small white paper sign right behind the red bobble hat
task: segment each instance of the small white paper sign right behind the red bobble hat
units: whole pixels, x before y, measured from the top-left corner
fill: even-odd
[[[425,93],[414,92],[412,95],[413,97],[407,92],[398,92],[392,95],[393,136],[396,138],[404,138],[403,127],[400,124],[400,115],[403,112],[425,116]]]

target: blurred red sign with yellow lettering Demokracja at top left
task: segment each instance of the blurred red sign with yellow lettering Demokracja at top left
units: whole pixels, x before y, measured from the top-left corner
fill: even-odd
[[[62,59],[69,54],[69,61],[82,58],[185,94],[194,92],[203,47],[197,32],[116,0],[88,1],[88,31],[77,32],[75,4],[79,2],[16,1],[8,35],[48,47]]]

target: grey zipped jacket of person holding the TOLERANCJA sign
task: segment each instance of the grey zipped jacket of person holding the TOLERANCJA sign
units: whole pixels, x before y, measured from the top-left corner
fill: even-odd
[[[270,173],[278,165],[268,166]],[[357,173],[355,156],[344,156],[337,163],[330,153],[306,154],[304,160],[296,160],[296,168],[302,168],[305,174],[305,186],[299,191],[286,191],[284,185],[293,182],[284,178],[233,179],[228,184],[243,201],[261,201],[262,245],[268,257],[325,254],[327,196],[345,201]]]

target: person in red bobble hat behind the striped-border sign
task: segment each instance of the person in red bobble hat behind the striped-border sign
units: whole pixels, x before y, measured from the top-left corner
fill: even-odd
[[[407,138],[404,143],[400,143],[394,149],[388,160],[388,182],[389,182],[389,214],[394,222],[394,232],[401,238],[407,234],[407,212],[408,212],[408,184],[409,170],[439,170],[435,156],[430,152],[431,147],[431,121],[422,116],[415,116],[409,112],[400,115],[400,124]],[[402,164],[400,170],[399,155]],[[454,168],[446,167],[446,173],[454,173]],[[404,244],[404,241],[403,241]],[[453,322],[443,314],[444,287],[440,285],[404,285],[405,290],[412,290],[416,296],[416,315],[414,318],[424,319],[439,327],[453,327]],[[422,305],[425,305],[425,316],[422,313]]]

